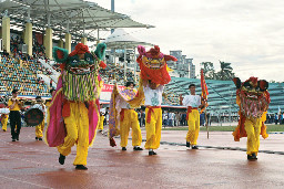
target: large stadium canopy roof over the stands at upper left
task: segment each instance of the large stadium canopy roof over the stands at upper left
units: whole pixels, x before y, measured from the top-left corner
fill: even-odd
[[[44,31],[50,17],[50,27],[54,35],[62,35],[62,32],[68,30],[68,24],[69,32],[78,36],[83,36],[84,31],[87,33],[98,29],[153,28],[133,21],[129,15],[82,0],[0,0],[0,11],[3,13],[6,10],[11,18],[11,25],[24,28],[30,14],[30,22],[39,31]],[[87,38],[95,40],[90,34]]]

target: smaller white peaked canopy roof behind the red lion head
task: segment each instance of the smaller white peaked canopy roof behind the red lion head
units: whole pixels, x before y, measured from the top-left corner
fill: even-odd
[[[126,33],[123,29],[115,29],[114,32],[105,39],[104,43],[106,43],[108,48],[114,49],[133,49],[138,45],[153,46],[151,43],[135,39],[131,34]]]

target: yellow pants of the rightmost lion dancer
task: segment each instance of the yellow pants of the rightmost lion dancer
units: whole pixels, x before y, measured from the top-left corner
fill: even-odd
[[[261,118],[246,118],[244,123],[244,129],[247,135],[246,154],[257,155],[260,148],[260,134],[261,134],[262,120]]]

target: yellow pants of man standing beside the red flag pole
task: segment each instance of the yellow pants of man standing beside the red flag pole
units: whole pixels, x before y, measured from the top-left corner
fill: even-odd
[[[186,135],[186,141],[190,141],[191,145],[197,145],[197,138],[200,134],[200,113],[197,109],[192,109],[189,114],[189,132]]]

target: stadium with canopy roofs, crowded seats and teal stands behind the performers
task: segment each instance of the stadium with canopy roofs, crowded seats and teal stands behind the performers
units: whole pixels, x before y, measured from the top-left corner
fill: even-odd
[[[59,65],[53,61],[52,48],[65,48],[69,52],[79,42],[84,44],[100,41],[100,30],[116,29],[105,41],[108,45],[106,69],[100,70],[104,88],[113,84],[124,85],[125,81],[138,82],[140,70],[135,62],[136,45],[153,44],[140,41],[121,30],[122,28],[144,28],[153,25],[139,23],[97,3],[88,1],[3,1],[1,15],[1,60],[0,95],[9,96],[19,88],[22,98],[42,96],[50,98],[49,91],[57,86]],[[41,10],[42,9],[42,10]],[[27,11],[28,10],[28,11]],[[52,14],[51,14],[52,12]],[[102,19],[104,18],[104,19]],[[64,20],[64,21],[62,21]],[[95,25],[92,23],[97,23]],[[93,34],[95,31],[97,36]],[[65,34],[64,34],[65,33]],[[173,71],[174,72],[174,71]],[[194,71],[195,72],[195,71]],[[189,85],[196,85],[201,94],[199,78],[172,76],[165,86],[164,109],[185,112],[180,106],[180,95],[189,93]],[[232,81],[206,80],[209,107],[215,122],[236,122],[239,106],[235,104],[235,85]],[[268,114],[284,109],[284,83],[270,83],[271,104]],[[103,90],[101,103],[108,106],[111,90]],[[3,98],[2,98],[3,101]]]

